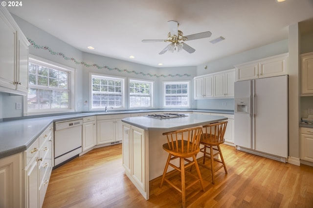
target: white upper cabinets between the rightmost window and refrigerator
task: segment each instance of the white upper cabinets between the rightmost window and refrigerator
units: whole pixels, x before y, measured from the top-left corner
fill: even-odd
[[[194,77],[194,99],[234,97],[235,69]]]

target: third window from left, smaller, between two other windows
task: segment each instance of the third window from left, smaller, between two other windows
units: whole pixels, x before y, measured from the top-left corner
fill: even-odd
[[[129,80],[129,107],[153,107],[153,82],[143,80]]]

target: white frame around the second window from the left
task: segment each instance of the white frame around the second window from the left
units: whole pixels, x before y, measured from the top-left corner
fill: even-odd
[[[121,83],[121,91],[122,91],[122,105],[120,108],[117,107],[113,107],[113,110],[125,110],[125,81],[126,78],[122,77],[122,76],[113,76],[113,75],[105,75],[105,74],[97,74],[97,73],[89,73],[89,111],[103,111],[105,110],[104,108],[92,108],[92,77],[93,76],[97,76],[97,77],[108,77],[108,78],[112,78],[112,79],[121,79],[122,83]]]

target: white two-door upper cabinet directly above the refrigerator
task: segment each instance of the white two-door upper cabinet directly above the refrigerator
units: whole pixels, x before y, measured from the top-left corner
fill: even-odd
[[[288,53],[236,65],[236,80],[288,75]]]

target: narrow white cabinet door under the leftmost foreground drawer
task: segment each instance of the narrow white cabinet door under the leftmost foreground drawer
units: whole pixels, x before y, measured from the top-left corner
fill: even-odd
[[[38,155],[33,158],[30,166],[25,170],[25,174],[26,208],[39,208]]]

